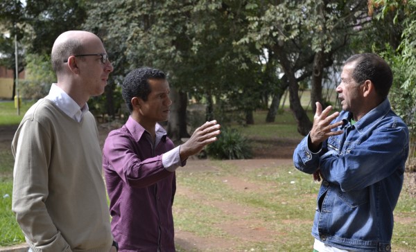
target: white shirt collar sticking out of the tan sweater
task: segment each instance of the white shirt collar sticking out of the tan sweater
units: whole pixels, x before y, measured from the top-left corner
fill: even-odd
[[[73,120],[76,120],[78,123],[83,120],[84,114],[89,110],[87,103],[85,103],[84,107],[80,108],[75,100],[68,96],[68,94],[60,89],[55,83],[52,84],[51,90],[45,98],[55,103],[60,110],[64,111],[65,114],[73,118]]]

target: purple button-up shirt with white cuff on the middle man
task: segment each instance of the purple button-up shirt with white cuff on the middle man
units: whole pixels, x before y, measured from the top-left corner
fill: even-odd
[[[179,147],[156,125],[156,139],[131,117],[108,134],[103,169],[119,251],[175,251],[172,204]]]

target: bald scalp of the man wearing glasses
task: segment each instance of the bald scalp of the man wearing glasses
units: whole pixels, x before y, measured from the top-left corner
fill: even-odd
[[[69,30],[62,33],[55,40],[52,47],[51,62],[55,73],[60,73],[64,69],[64,60],[71,55],[83,54],[87,44],[92,42],[101,42],[101,39],[94,33],[84,30]]]

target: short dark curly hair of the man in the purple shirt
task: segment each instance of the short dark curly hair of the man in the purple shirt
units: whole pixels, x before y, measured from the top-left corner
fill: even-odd
[[[159,69],[152,69],[150,67],[142,67],[135,69],[125,76],[123,84],[121,85],[121,95],[127,105],[130,113],[133,111],[132,98],[138,97],[146,101],[148,99],[150,85],[148,80],[150,79],[166,79],[166,74]]]

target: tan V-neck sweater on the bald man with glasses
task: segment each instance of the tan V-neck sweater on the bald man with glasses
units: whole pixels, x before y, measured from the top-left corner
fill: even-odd
[[[36,251],[110,251],[112,234],[94,116],[80,123],[39,100],[12,141],[12,210]]]

